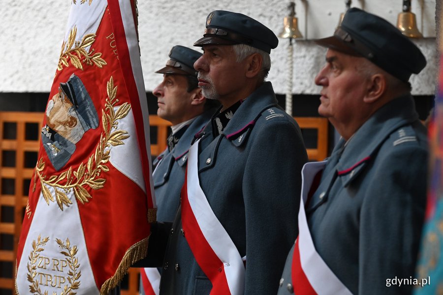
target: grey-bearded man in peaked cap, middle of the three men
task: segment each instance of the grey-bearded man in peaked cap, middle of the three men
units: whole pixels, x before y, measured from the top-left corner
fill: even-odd
[[[162,295],[277,293],[307,161],[297,123],[264,81],[277,44],[269,28],[229,11],[211,12],[194,44],[198,85],[221,108],[189,151]]]

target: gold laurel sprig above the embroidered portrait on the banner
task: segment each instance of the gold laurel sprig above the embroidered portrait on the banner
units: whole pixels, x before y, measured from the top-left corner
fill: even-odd
[[[107,64],[106,61],[101,58],[101,53],[94,53],[95,49],[92,49],[89,53],[86,52],[85,48],[94,44],[96,36],[95,34],[86,34],[83,36],[82,41],[75,41],[76,36],[77,27],[74,26],[69,32],[68,41],[63,41],[57,70],[61,71],[63,66],[68,67],[68,61],[76,69],[80,70],[83,70],[82,63],[86,63],[88,65],[95,64],[99,68],[102,68],[103,65]],[[82,56],[84,56],[83,60],[81,60]]]

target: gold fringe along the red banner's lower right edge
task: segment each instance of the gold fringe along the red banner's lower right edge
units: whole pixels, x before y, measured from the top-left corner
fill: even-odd
[[[143,239],[132,245],[123,256],[119,267],[115,271],[113,277],[107,279],[100,289],[100,295],[108,295],[109,292],[117,287],[118,283],[123,279],[127,270],[140,259],[143,259],[148,254],[149,237]]]

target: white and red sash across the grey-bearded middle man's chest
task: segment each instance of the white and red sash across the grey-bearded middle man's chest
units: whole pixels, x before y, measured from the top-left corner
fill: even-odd
[[[243,295],[245,265],[199,185],[198,142],[189,150],[182,188],[182,226],[200,268],[212,283],[211,295]]]

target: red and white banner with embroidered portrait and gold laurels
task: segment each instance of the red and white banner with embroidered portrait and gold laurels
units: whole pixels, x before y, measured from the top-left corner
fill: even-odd
[[[17,252],[17,294],[108,294],[155,200],[131,0],[72,0]]]

